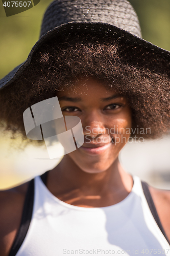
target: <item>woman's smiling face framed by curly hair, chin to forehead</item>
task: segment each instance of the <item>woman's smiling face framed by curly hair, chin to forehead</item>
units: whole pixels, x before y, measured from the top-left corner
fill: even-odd
[[[131,130],[127,99],[97,78],[83,78],[57,94],[63,116],[81,119],[84,144],[67,154],[84,172],[100,173],[117,159]]]

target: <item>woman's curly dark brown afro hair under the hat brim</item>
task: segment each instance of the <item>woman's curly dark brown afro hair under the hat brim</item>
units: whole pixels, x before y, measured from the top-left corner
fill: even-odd
[[[162,57],[118,40],[49,41],[35,53],[22,76],[0,91],[0,120],[5,131],[17,131],[26,139],[23,112],[29,106],[73,87],[81,77],[95,77],[127,97],[133,131],[150,129],[142,137],[159,138],[170,126],[169,70]]]

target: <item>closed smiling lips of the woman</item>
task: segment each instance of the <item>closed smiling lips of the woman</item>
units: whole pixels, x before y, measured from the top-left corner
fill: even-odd
[[[102,154],[103,152],[105,152],[111,145],[112,145],[112,143],[110,142],[110,143],[102,144],[102,145],[101,144],[88,145],[88,147],[81,146],[79,148],[80,148],[80,150],[83,150],[90,155],[98,155],[98,154]]]

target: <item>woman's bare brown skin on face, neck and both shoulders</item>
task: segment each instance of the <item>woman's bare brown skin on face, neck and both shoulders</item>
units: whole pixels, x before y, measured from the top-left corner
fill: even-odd
[[[118,154],[126,141],[116,145],[112,143],[112,139],[115,142],[122,134],[112,134],[110,130],[114,124],[119,128],[131,128],[131,109],[123,96],[106,90],[99,80],[82,79],[77,87],[78,90],[75,91],[69,89],[60,92],[58,98],[63,115],[79,116],[84,136],[88,137],[85,138],[82,148],[65,155],[62,161],[48,173],[47,188],[54,196],[71,205],[81,207],[113,205],[128,196],[133,186],[133,179],[118,161]],[[89,126],[88,131],[86,126]],[[106,128],[109,133],[106,133]],[[128,140],[130,135],[123,135]],[[87,138],[91,139],[90,143]],[[97,141],[97,138],[100,140]],[[89,147],[97,148],[105,144],[108,147],[100,154],[89,153],[86,150]],[[8,256],[15,239],[27,188],[28,183],[25,183],[0,193],[2,256]],[[170,191],[153,187],[150,187],[150,191],[162,226],[170,240]]]

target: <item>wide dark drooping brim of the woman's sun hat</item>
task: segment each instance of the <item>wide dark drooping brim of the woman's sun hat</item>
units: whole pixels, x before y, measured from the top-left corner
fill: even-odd
[[[60,25],[53,30],[48,31],[43,35],[33,46],[31,52],[28,55],[28,58],[25,62],[21,63],[15,69],[13,69],[8,75],[0,80],[0,90],[9,86],[13,81],[18,79],[22,72],[30,65],[31,60],[35,53],[44,47],[48,42],[55,40],[56,42],[62,43],[69,41],[69,38],[73,36],[91,36],[93,38],[109,38],[113,41],[118,41],[119,44],[124,44],[127,48],[131,49],[135,47],[140,47],[141,51],[152,52],[155,59],[162,58],[164,62],[170,63],[170,52],[162,48],[159,48],[153,45],[151,42],[148,42],[144,39],[141,39],[123,29],[120,29],[116,26],[107,24],[107,23],[92,23],[92,22],[70,22],[67,24]],[[134,52],[133,52],[134,55]],[[140,56],[137,55],[138,60],[140,61]],[[141,58],[143,58],[141,56]],[[159,66],[159,60],[155,62],[155,65]],[[153,67],[154,68],[154,67]],[[158,67],[155,67],[158,69]]]

